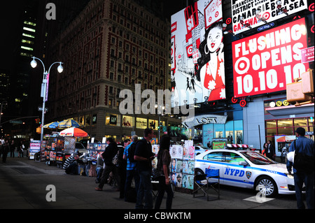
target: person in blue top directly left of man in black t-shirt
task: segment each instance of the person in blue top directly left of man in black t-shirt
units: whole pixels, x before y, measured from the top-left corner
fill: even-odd
[[[127,159],[127,174],[126,174],[126,182],[125,182],[125,201],[135,202],[137,191],[139,187],[139,175],[136,171],[136,161],[134,160],[134,150],[136,150],[136,145],[138,142],[138,136],[132,136],[132,143],[127,145],[124,150],[124,159]],[[135,188],[132,189],[132,178],[134,178]]]

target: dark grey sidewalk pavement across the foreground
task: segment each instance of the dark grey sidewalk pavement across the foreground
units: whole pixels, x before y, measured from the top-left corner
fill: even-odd
[[[134,210],[135,203],[119,199],[119,192],[104,185],[102,192],[97,192],[95,177],[67,175],[57,166],[48,166],[43,162],[24,158],[8,157],[6,164],[0,161],[0,208],[31,209],[126,209]],[[48,202],[46,187],[54,185],[56,201]],[[255,196],[250,189],[221,187],[221,199],[207,201],[207,198],[193,198],[192,194],[174,193],[173,209],[295,209],[295,199],[284,197],[285,204],[276,200],[266,203],[244,201]],[[281,198],[280,198],[281,199]],[[279,200],[278,200],[279,201]],[[154,204],[155,200],[153,200]],[[165,208],[166,194],[161,209]]]

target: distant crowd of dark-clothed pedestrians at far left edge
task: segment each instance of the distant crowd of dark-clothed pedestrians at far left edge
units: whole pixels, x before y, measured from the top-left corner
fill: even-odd
[[[15,151],[18,152],[18,157],[24,157],[25,143],[20,141],[16,144],[14,140],[8,141],[3,138],[0,139],[0,157],[2,157],[2,162],[6,163],[6,158],[10,152],[10,157],[15,157]]]

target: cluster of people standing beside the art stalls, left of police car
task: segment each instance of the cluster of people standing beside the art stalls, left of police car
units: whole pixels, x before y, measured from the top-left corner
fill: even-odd
[[[138,136],[132,136],[132,140],[124,141],[124,146],[118,148],[113,138],[107,138],[106,150],[97,161],[97,180],[99,185],[95,188],[102,191],[104,185],[109,183],[110,173],[113,174],[120,192],[120,199],[135,202],[136,209],[153,208],[153,185],[151,183],[152,160],[155,154],[152,152],[151,139],[154,137],[152,129],[144,130],[144,138],[138,140]],[[172,208],[173,190],[169,183],[169,154],[170,138],[162,136],[160,151],[158,152],[158,196],[155,201],[156,209],[160,208],[162,198],[167,192],[167,209]],[[102,168],[102,164],[104,164]],[[132,182],[134,181],[134,187]],[[143,202],[144,201],[144,202]]]

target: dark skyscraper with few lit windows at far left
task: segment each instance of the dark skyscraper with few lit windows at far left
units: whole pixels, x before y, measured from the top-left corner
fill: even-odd
[[[29,139],[36,138],[35,117],[41,112],[41,81],[43,67],[31,69],[31,56],[40,58],[46,67],[48,45],[63,25],[75,16],[88,0],[62,1],[55,0],[58,20],[48,20],[46,17],[48,0],[18,0],[3,3],[1,19],[6,21],[3,30],[9,35],[1,35],[1,50],[3,59],[0,64],[0,103],[3,106],[1,123],[6,138]],[[17,120],[18,119],[18,120]],[[18,123],[10,123],[15,120]]]

